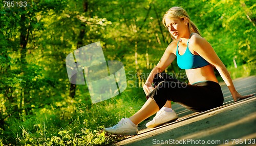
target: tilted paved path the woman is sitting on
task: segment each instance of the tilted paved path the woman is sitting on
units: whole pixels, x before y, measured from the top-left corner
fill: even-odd
[[[234,85],[240,94],[254,96],[233,102],[227,86],[221,84],[223,106],[193,112],[174,104],[177,121],[142,129],[115,145],[256,145],[256,76],[234,80]]]

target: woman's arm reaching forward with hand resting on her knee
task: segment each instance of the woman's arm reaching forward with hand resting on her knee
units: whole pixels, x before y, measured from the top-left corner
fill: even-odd
[[[176,58],[176,55],[174,54],[175,46],[176,46],[175,42],[172,42],[168,45],[160,61],[158,62],[156,67],[152,69],[152,71],[150,72],[150,75],[148,75],[146,82],[143,85],[143,90],[146,95],[151,91],[150,88],[152,87],[152,82],[155,75],[165,70],[165,68],[168,67],[175,60]]]

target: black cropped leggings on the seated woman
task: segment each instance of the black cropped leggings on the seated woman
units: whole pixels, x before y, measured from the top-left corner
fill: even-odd
[[[193,111],[206,111],[223,104],[223,94],[219,83],[202,81],[195,84],[181,82],[166,73],[159,73],[154,80],[155,89],[146,96],[152,98],[159,109],[167,100],[177,102]]]

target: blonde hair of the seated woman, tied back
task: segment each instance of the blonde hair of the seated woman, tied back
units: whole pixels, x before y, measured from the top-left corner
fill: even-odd
[[[198,27],[196,26],[196,24],[194,22],[192,22],[190,20],[190,17],[188,16],[186,10],[184,10],[183,8],[172,7],[168,11],[165,12],[165,14],[163,15],[163,19],[162,19],[162,23],[165,27],[167,27],[165,24],[166,18],[175,19],[175,20],[178,20],[178,19],[184,20],[184,18],[187,18],[190,33],[197,33],[201,36]],[[172,36],[172,38],[173,38],[173,40],[175,40],[175,38],[173,36]]]

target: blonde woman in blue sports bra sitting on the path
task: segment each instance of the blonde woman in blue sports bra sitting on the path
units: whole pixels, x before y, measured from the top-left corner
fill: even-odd
[[[211,45],[200,36],[197,26],[184,9],[170,8],[163,16],[162,22],[174,41],[168,45],[143,86],[147,101],[129,119],[123,118],[117,125],[105,128],[108,133],[136,135],[137,125],[156,112],[153,121],[146,124],[147,127],[177,120],[178,115],[172,110],[171,101],[193,111],[206,111],[221,106],[223,94],[214,68],[227,84],[234,101],[252,96],[241,96],[236,91],[226,67]],[[180,82],[161,73],[176,57],[178,66],[185,69],[189,83]]]

